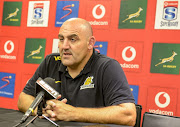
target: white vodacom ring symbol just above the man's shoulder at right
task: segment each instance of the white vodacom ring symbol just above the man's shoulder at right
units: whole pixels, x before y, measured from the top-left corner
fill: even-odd
[[[126,56],[126,52],[127,52],[128,49],[132,52],[132,55],[130,57]],[[127,47],[125,47],[123,49],[123,51],[122,51],[122,58],[125,61],[130,62],[130,61],[134,60],[135,57],[136,57],[136,50],[132,46],[127,46]]]

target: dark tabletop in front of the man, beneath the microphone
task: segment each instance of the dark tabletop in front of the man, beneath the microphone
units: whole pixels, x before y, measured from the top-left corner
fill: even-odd
[[[0,108],[0,127],[13,127],[20,122],[23,115],[24,113],[17,110]],[[32,118],[33,116],[30,116],[24,124],[18,127],[26,125]],[[98,124],[84,122],[57,121],[56,123],[60,127],[130,127],[115,124]],[[46,119],[37,118],[33,123],[30,123],[28,127],[55,127],[55,125]]]

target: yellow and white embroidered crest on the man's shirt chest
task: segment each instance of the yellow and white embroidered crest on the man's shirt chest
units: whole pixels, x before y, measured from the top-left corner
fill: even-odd
[[[84,84],[80,87],[80,90],[87,89],[87,88],[94,88],[93,84],[93,76],[87,77],[84,81]]]

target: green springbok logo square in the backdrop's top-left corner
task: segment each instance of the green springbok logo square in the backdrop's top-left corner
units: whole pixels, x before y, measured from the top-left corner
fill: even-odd
[[[2,25],[20,26],[22,2],[4,2]]]

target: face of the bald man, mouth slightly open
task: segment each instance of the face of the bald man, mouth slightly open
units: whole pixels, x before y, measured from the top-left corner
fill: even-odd
[[[65,66],[77,67],[85,60],[88,53],[89,39],[79,25],[64,25],[59,31],[59,52]]]

